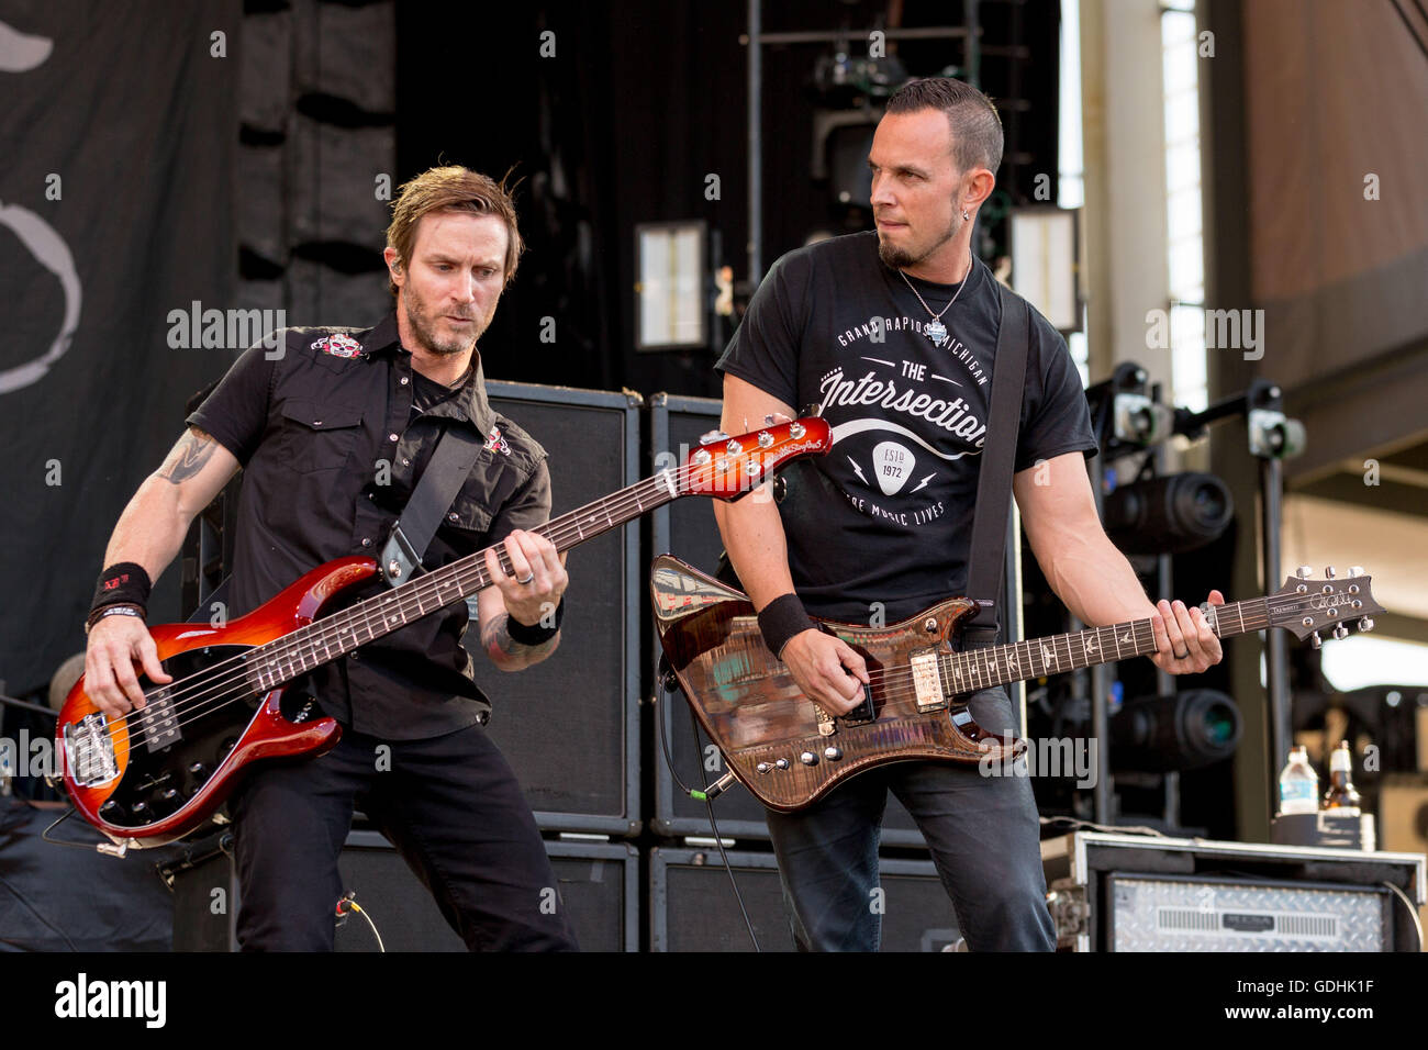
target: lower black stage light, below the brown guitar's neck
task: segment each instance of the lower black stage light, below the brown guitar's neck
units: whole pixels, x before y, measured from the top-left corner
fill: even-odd
[[[1112,769],[1198,769],[1228,759],[1238,744],[1240,709],[1212,689],[1140,697],[1111,719]]]

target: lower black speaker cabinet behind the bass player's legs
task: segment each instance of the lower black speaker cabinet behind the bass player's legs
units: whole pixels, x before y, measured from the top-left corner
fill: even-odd
[[[188,863],[169,871],[174,891],[174,951],[236,951],[238,883],[224,851],[231,837],[194,847]],[[637,951],[640,856],[628,843],[547,841],[545,851],[584,951]],[[351,831],[338,870],[343,886],[367,911],[387,951],[466,951],[417,876],[377,831]],[[336,906],[337,901],[333,901]],[[337,927],[338,951],[377,951],[371,926],[348,914]]]

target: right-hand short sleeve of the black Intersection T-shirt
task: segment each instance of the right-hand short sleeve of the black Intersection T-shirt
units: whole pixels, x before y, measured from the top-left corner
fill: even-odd
[[[1017,439],[1018,471],[1070,451],[1090,459],[1098,449],[1091,430],[1091,406],[1065,339],[1035,311],[1032,334],[1038,353],[1028,356],[1021,434]]]

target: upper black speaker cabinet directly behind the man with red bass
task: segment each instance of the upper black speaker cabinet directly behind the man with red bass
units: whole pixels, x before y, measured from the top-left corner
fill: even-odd
[[[640,480],[638,394],[488,383],[493,407],[550,453],[551,514]],[[543,829],[640,830],[640,523],[570,551],[560,649],[501,674],[467,633],[490,694],[488,730],[510,760]]]

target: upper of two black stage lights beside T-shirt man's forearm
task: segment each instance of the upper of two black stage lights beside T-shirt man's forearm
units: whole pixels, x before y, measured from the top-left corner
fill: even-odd
[[[1178,554],[1202,547],[1230,527],[1230,489],[1214,474],[1165,474],[1108,493],[1105,533],[1127,554]]]

